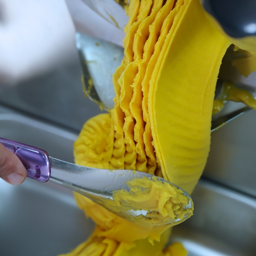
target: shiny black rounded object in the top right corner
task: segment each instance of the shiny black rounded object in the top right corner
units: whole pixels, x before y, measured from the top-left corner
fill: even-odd
[[[256,35],[256,0],[203,0],[204,9],[233,38]]]

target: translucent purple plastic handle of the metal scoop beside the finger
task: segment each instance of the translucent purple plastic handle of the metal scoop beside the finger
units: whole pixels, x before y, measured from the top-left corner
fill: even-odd
[[[40,182],[47,182],[49,180],[51,167],[49,155],[46,151],[3,138],[0,138],[0,143],[19,157],[27,170],[27,177]]]

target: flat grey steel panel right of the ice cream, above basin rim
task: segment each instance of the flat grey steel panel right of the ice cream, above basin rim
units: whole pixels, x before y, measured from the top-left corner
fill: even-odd
[[[204,177],[256,197],[256,111],[212,133]]]

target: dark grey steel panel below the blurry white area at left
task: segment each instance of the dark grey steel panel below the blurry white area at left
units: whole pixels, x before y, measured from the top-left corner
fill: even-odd
[[[87,119],[102,113],[84,97],[78,55],[70,64],[16,86],[0,84],[0,104],[79,132]]]

